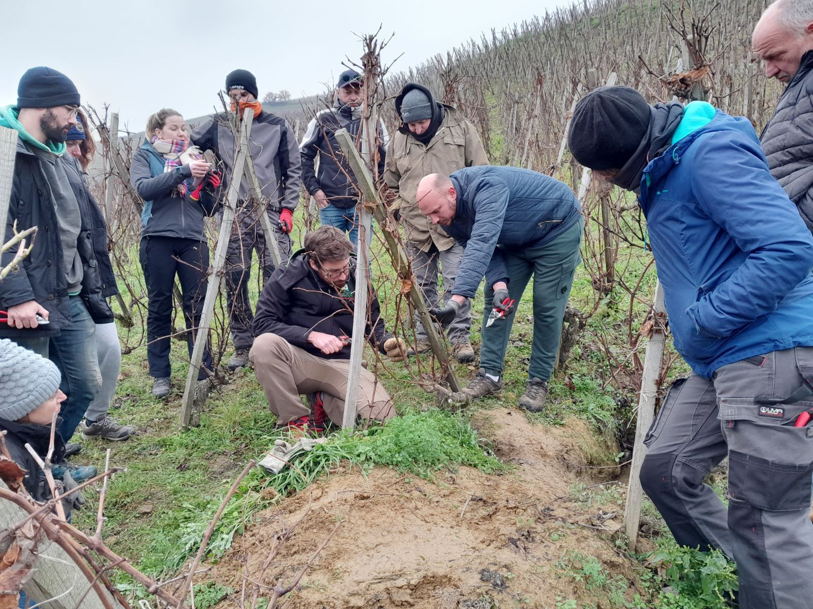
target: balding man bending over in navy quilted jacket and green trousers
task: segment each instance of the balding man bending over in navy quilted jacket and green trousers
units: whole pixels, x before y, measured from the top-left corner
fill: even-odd
[[[416,199],[420,211],[464,248],[450,300],[429,312],[448,324],[475,296],[485,275],[480,370],[456,397],[471,400],[502,389],[502,361],[516,305],[533,274],[533,343],[528,385],[519,404],[541,412],[567,296],[581,261],[579,201],[559,180],[498,166],[427,175],[418,184]]]

